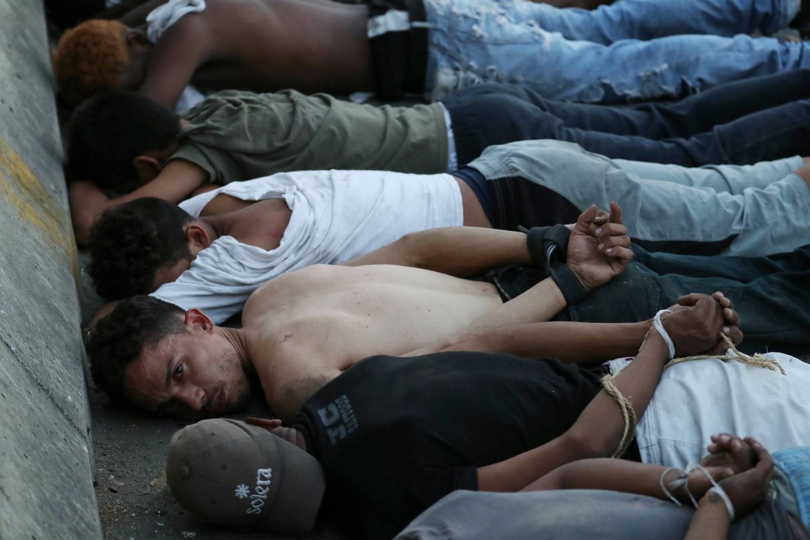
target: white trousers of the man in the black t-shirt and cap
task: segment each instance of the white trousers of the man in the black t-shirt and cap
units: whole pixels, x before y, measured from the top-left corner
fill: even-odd
[[[723,432],[751,435],[770,452],[810,445],[810,365],[787,354],[764,356],[787,376],[717,359],[664,371],[638,422],[642,461],[684,469],[706,456],[711,435]]]

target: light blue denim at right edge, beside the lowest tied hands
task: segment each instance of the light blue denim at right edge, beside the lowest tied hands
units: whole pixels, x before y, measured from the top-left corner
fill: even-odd
[[[786,448],[774,458],[774,500],[810,529],[810,447]]]

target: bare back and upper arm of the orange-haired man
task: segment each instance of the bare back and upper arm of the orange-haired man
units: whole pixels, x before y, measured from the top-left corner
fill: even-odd
[[[174,105],[202,88],[347,92],[373,87],[368,8],[328,0],[208,0],[151,51],[140,92]]]

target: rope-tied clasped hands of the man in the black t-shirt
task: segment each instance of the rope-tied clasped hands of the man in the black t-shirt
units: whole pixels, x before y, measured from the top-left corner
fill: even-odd
[[[675,345],[676,357],[692,354],[725,354],[728,345],[719,338],[723,332],[737,345],[743,341],[740,315],[723,293],[687,294],[661,317],[664,330]],[[650,332],[656,332],[652,329]]]

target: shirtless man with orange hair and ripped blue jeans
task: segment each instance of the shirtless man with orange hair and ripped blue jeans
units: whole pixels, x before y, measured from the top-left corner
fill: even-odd
[[[799,2],[713,0],[711,17],[695,16],[707,1],[624,0],[584,11],[494,0],[207,0],[151,41],[117,21],[88,21],[65,33],[54,65],[71,101],[118,88],[169,106],[190,81],[438,99],[511,80],[548,99],[642,100],[808,65],[804,43],[737,35],[784,28]],[[654,78],[639,77],[646,72]]]

